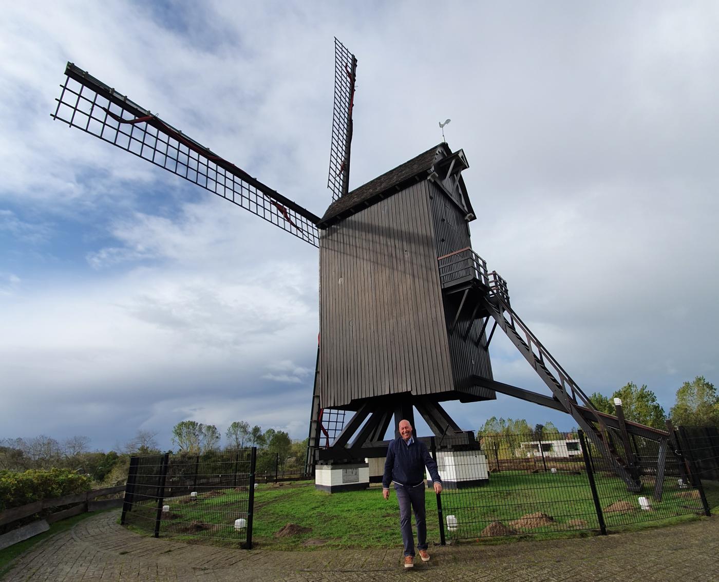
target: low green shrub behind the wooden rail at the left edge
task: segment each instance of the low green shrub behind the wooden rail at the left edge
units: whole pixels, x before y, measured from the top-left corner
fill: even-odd
[[[21,505],[89,491],[92,478],[69,469],[0,470],[0,511]]]

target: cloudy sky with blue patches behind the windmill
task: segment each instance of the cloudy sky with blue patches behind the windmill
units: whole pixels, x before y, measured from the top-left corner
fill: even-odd
[[[40,1],[0,21],[0,439],[171,447],[192,419],[308,434],[318,253],[61,122],[75,63],[315,214],[334,40],[350,187],[441,142],[475,252],[582,389],[717,383],[719,4]],[[548,394],[498,331],[495,380]],[[446,406],[574,426],[506,396]],[[420,434],[426,432],[418,423]]]

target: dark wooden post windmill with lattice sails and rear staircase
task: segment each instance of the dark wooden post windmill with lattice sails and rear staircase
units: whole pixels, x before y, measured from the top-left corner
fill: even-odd
[[[441,449],[476,451],[474,433],[441,403],[490,400],[496,392],[571,414],[628,487],[641,487],[631,447],[618,453],[610,429],[623,441],[629,434],[666,440],[668,433],[597,412],[513,311],[503,278],[472,250],[476,216],[462,178],[469,167],[463,150],[452,151],[443,134],[443,142],[349,191],[356,73],[357,59],[335,39],[332,202],[321,217],[72,63],[52,117],[319,248],[320,341],[307,459],[308,470],[321,469],[319,488],[367,486],[365,458],[383,458],[390,423],[396,431],[400,419],[413,422],[415,410]],[[497,327],[551,396],[494,380],[489,346]],[[352,416],[344,422],[346,412]]]

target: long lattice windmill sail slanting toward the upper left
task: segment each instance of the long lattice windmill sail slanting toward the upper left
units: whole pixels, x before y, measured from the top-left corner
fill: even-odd
[[[265,186],[126,96],[68,63],[53,119],[185,178],[319,247],[319,217]]]

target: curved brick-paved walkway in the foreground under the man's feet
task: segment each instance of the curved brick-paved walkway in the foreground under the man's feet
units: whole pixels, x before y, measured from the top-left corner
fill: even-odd
[[[22,555],[4,581],[719,580],[719,517],[643,532],[505,545],[430,547],[413,570],[400,548],[273,552],[141,537],[116,511],[83,520]]]

